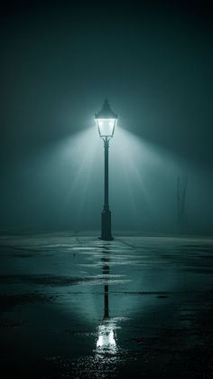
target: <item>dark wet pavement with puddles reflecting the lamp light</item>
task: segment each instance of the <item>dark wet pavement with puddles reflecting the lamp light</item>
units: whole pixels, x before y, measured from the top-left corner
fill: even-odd
[[[212,377],[212,258],[211,238],[1,235],[1,376]]]

